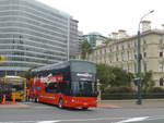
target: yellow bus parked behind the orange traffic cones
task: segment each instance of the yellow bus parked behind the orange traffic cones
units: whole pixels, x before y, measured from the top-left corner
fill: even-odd
[[[5,85],[8,85],[8,88],[10,88],[11,97],[10,99],[13,99],[13,97],[16,100],[23,100],[25,99],[26,95],[26,79],[24,77],[20,76],[4,76],[2,77]]]

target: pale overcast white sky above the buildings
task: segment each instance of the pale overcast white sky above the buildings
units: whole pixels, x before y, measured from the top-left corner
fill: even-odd
[[[108,36],[118,29],[136,35],[140,19],[151,10],[144,20],[151,21],[152,28],[162,29],[164,24],[163,0],[37,0],[63,11],[79,21],[83,34],[97,32]]]

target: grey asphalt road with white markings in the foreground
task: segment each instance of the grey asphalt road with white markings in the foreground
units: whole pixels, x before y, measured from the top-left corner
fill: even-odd
[[[164,108],[61,110],[43,103],[27,104],[0,109],[0,123],[164,123]]]

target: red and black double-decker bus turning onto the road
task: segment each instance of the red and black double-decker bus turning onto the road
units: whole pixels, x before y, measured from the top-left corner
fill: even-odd
[[[96,64],[70,60],[31,71],[30,97],[59,108],[97,106]]]

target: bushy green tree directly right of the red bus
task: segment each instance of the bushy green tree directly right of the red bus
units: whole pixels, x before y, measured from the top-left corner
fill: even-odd
[[[120,67],[107,64],[97,64],[97,78],[104,87],[120,87],[131,85],[133,74],[128,73]]]

